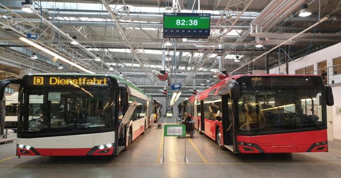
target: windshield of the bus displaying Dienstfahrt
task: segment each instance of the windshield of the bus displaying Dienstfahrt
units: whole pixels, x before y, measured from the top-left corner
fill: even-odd
[[[112,129],[115,95],[109,85],[23,87],[19,131],[63,133]]]

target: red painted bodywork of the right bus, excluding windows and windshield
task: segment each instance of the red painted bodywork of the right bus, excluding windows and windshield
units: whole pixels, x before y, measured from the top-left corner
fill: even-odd
[[[191,105],[194,105],[194,113],[190,113],[192,120],[195,121],[195,129],[199,132],[204,133],[209,138],[216,141],[216,133],[218,130],[222,134],[222,143],[221,147],[227,147],[224,143],[224,131],[222,121],[211,120],[205,118],[202,121],[203,116],[197,114],[198,102],[208,98],[209,93],[212,94],[214,92],[215,95],[219,95],[219,90],[221,87],[227,84],[228,80],[236,80],[243,76],[255,76],[255,77],[263,77],[263,76],[300,76],[302,75],[238,75],[231,76],[227,79],[221,80],[216,85],[204,90],[201,93],[198,93],[195,96],[191,96],[189,101],[189,109]],[[305,77],[313,77],[313,75],[304,75]],[[314,76],[315,77],[315,76]],[[224,94],[223,94],[224,95]],[[225,103],[223,103],[225,104]],[[201,124],[204,122],[205,131],[201,131]],[[233,127],[233,126],[232,126]],[[235,128],[233,128],[235,129]],[[218,143],[219,144],[219,143]],[[232,146],[232,145],[231,145]],[[266,135],[255,135],[248,136],[243,134],[236,133],[234,135],[234,143],[233,149],[229,150],[235,153],[296,153],[296,152],[327,152],[327,130],[325,129],[317,129],[311,131],[296,131],[293,130],[289,133],[280,133],[280,134],[266,134]]]

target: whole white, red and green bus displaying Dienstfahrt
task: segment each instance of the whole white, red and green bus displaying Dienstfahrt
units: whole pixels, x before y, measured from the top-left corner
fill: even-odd
[[[18,156],[116,155],[153,122],[153,98],[118,76],[5,79],[0,100],[9,83],[19,83]]]

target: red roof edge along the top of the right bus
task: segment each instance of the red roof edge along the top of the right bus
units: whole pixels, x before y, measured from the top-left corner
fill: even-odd
[[[239,79],[241,77],[247,77],[247,76],[255,76],[255,77],[266,77],[266,76],[273,76],[273,77],[277,77],[277,76],[297,76],[297,77],[314,77],[315,75],[299,75],[299,74],[294,74],[294,75],[291,75],[291,74],[244,74],[244,75],[235,75],[235,76],[228,76],[226,79],[222,79],[220,82],[218,82],[217,84],[213,85],[212,87],[209,87],[208,89],[198,93],[196,96],[197,96],[197,100],[200,101],[200,100],[203,100],[203,99],[206,99],[208,97],[208,95],[211,93],[211,92],[214,92],[214,94],[217,94],[220,87],[223,86],[224,84],[226,84],[226,82],[228,80],[236,80],[236,79]],[[195,96],[191,96],[189,97],[189,102],[194,102],[194,99],[195,99]]]

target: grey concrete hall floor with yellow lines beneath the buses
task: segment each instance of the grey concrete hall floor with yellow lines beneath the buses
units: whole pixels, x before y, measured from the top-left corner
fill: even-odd
[[[174,122],[174,119],[164,119]],[[341,178],[341,143],[328,153],[233,155],[204,135],[165,138],[156,125],[112,157],[15,157],[16,143],[0,145],[1,178]]]

